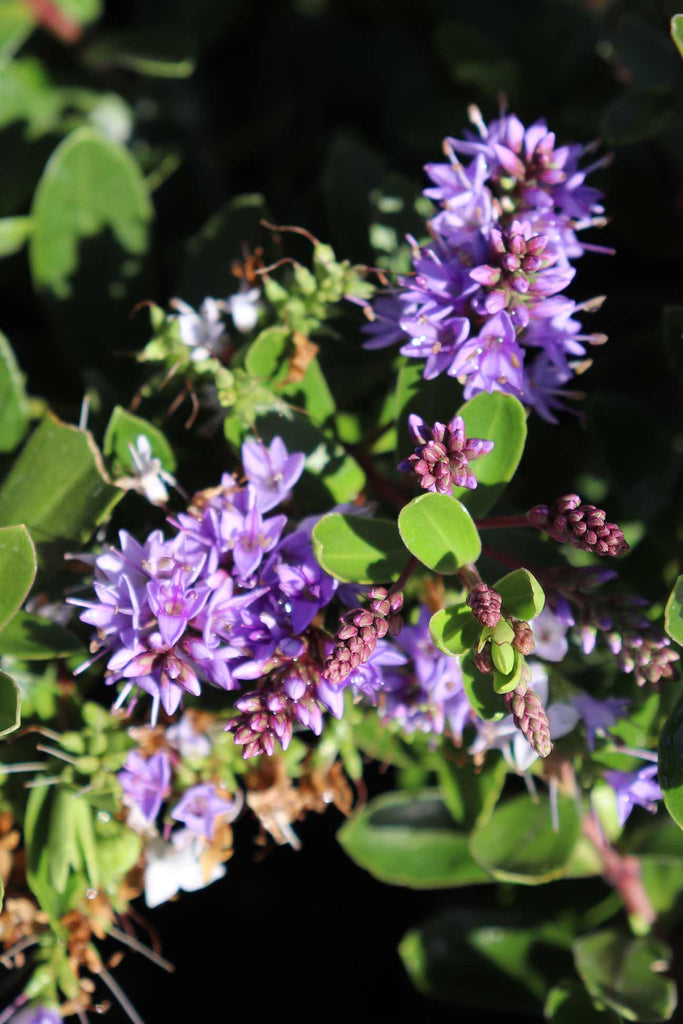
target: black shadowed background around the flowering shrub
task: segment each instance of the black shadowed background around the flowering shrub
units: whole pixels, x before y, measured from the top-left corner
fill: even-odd
[[[142,85],[131,73],[93,68],[85,47],[65,48],[46,34],[29,48],[56,80],[127,98],[134,147],[179,155],[154,197],[155,249],[140,296],[161,304],[179,294],[187,238],[241,193],[262,193],[276,222],[304,225],[340,257],[372,260],[371,189],[395,176],[416,193],[424,187],[422,165],[439,159],[444,135],[461,135],[471,102],[488,120],[505,92],[523,121],[547,118],[559,140],[602,136],[614,154],[596,176],[610,222],[592,241],[616,255],[586,255],[572,294],[607,295],[589,327],[610,342],[581,381],[586,418],[564,417],[559,429],[533,423],[510,501],[522,490],[526,505],[547,501],[582,482],[590,499],[586,486],[598,478],[610,515],[642,524],[632,585],[660,600],[677,565],[682,497],[676,350],[668,357],[661,337],[663,305],[681,301],[681,61],[668,35],[675,10],[657,0],[111,0],[97,32],[168,32],[197,55],[190,78]],[[54,141],[45,140],[45,156]],[[36,158],[35,173],[27,165],[26,200],[14,196],[6,212],[24,212],[42,163]],[[226,265],[234,255],[225,254]],[[0,285],[3,328],[34,391],[73,417],[82,382],[59,359],[58,343],[49,348],[51,325],[22,257],[0,266]],[[122,349],[135,346],[138,330],[122,326]],[[357,352],[357,337],[345,344]],[[93,353],[96,361],[97,325]],[[131,373],[126,365],[122,377]],[[371,793],[390,781],[372,770]],[[117,969],[147,1024],[290,1013],[357,1024],[481,1019],[418,995],[395,951],[408,928],[466,903],[468,893],[374,882],[336,845],[339,821],[333,811],[308,819],[298,827],[301,852],[265,855],[253,829],[239,825],[223,882],[156,911],[140,907],[177,967],[167,978],[129,954]],[[109,1019],[123,1017],[113,1009]]]

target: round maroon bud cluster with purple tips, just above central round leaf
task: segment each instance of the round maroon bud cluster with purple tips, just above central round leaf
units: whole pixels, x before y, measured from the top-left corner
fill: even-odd
[[[466,437],[461,416],[454,417],[447,426],[438,422],[429,426],[422,417],[412,414],[408,429],[417,446],[399,464],[399,470],[414,472],[424,490],[440,495],[450,495],[454,486],[476,487],[477,479],[469,464],[490,452],[493,441]]]

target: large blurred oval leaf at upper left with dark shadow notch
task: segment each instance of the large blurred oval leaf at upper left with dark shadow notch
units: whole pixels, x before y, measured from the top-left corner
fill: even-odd
[[[36,189],[29,247],[34,283],[57,299],[69,298],[79,246],[110,229],[127,255],[110,293],[113,286],[127,293],[130,261],[147,248],[152,216],[140,169],[128,151],[89,128],[78,129],[56,147]]]

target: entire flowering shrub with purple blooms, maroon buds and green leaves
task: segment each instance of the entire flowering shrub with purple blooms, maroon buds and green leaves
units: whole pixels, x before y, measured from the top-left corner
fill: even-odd
[[[135,127],[152,100],[50,84],[22,46],[49,32],[103,81],[194,65],[84,38],[96,17],[66,0],[0,12],[0,129],[49,142],[0,256],[28,247],[66,353],[59,369],[0,336],[0,1024],[138,1024],[122,951],[150,962],[145,988],[183,973],[157,908],[229,893],[279,848],[304,856],[314,820],[392,899],[436,894],[398,948],[425,999],[672,1019],[680,425],[667,439],[640,407],[591,397],[622,344],[591,370],[607,147],[556,136],[539,96],[528,121],[470,104],[443,161],[424,153],[422,191],[417,167],[415,186],[364,185],[372,252],[340,257],[245,194],[180,272],[169,246],[170,289],[145,278],[151,190],[178,171]],[[326,187],[346,196],[337,169]],[[669,307],[678,369],[680,323]],[[645,389],[657,356],[641,338],[636,357]],[[314,889],[295,895],[324,918]],[[254,959],[219,924],[222,970],[242,946]],[[262,970],[284,951],[259,941]]]

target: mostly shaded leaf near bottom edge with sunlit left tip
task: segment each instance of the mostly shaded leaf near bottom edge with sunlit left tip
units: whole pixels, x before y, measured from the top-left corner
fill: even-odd
[[[569,942],[550,921],[454,907],[408,932],[398,952],[425,995],[507,1015],[538,1013],[550,979],[570,970]]]

